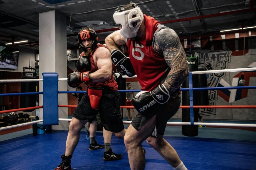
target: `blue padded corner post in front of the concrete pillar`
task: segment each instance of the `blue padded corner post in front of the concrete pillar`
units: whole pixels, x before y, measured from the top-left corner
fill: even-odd
[[[43,73],[43,125],[59,124],[57,73]]]

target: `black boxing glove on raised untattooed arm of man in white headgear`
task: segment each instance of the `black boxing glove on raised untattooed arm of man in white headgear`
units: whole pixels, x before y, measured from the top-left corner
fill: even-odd
[[[117,64],[121,68],[121,70],[128,76],[132,77],[136,75],[133,66],[131,64],[130,58],[126,57],[124,53],[122,53],[118,49],[114,49],[111,51],[111,60],[112,63],[116,66]]]

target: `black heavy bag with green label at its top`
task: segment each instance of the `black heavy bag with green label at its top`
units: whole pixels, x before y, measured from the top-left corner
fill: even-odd
[[[189,71],[198,71],[198,58],[187,57]],[[192,75],[193,88],[198,87],[198,74]],[[189,78],[182,83],[182,88],[189,88]],[[193,91],[193,104],[198,105],[198,91]],[[182,91],[182,106],[189,106],[189,91]],[[194,108],[194,122],[198,122],[199,109]],[[182,109],[182,122],[190,122],[190,109]],[[182,135],[197,136],[198,126],[182,125]]]

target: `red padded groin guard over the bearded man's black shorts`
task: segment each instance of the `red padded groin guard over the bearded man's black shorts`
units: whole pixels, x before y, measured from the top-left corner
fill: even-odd
[[[88,86],[87,93],[89,95],[92,108],[98,110],[100,98],[102,96],[102,90],[90,89],[90,86]]]

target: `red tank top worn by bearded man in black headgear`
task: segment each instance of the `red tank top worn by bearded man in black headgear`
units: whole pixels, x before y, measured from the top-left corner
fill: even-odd
[[[91,54],[90,54],[90,61],[91,61],[91,64],[92,64],[92,70],[91,70],[92,73],[97,70],[97,69],[95,68],[95,65],[94,65],[93,53],[94,53],[94,52],[97,50],[97,48],[99,48],[99,47],[105,47],[105,48],[107,48],[107,46],[98,43],[96,49],[91,52]],[[84,55],[84,52],[82,52],[82,53],[80,54],[79,58],[80,58],[81,56],[83,56],[83,55]],[[111,76],[111,78],[110,78],[109,80],[104,81],[104,82],[100,82],[100,83],[97,83],[97,82],[87,82],[87,84],[88,84],[88,85],[91,85],[91,86],[108,86],[109,89],[111,89],[111,90],[113,90],[113,91],[117,91],[118,86],[117,86],[116,81],[114,80],[113,68],[114,68],[114,64],[112,64],[112,76]]]

